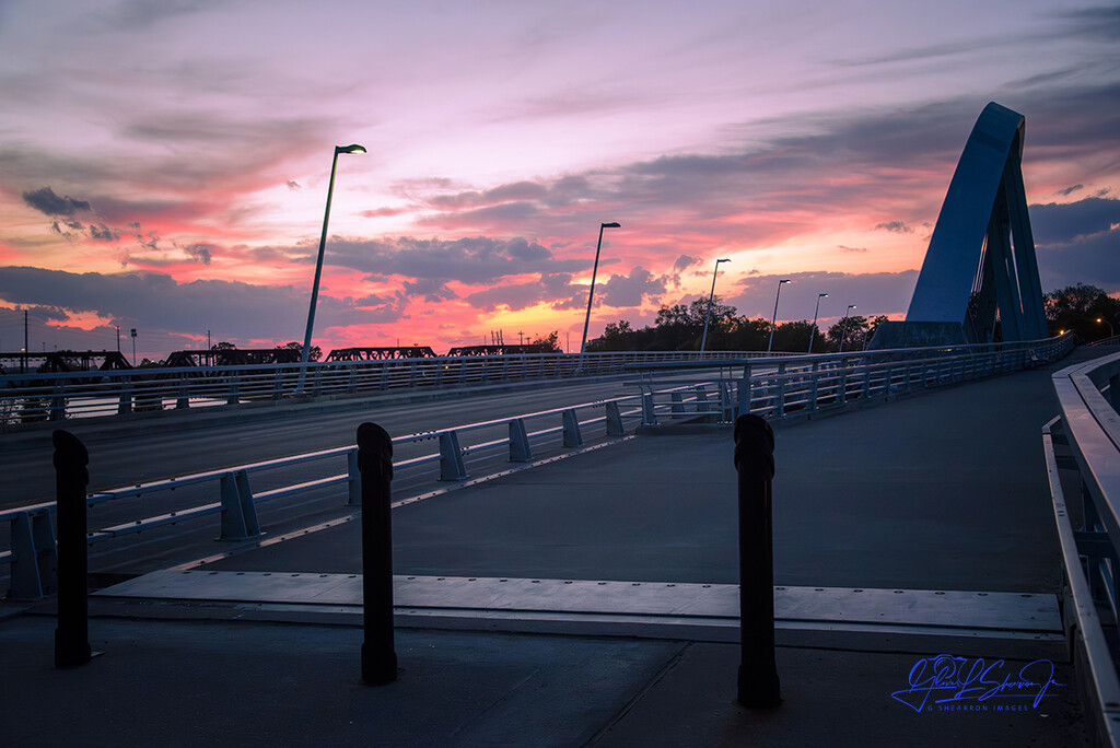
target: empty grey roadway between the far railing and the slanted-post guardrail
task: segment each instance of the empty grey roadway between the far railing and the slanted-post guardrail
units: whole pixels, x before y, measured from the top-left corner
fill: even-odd
[[[408,404],[370,399],[330,413],[309,413],[293,405],[227,411],[215,421],[211,412],[193,412],[152,420],[147,433],[134,432],[138,421],[121,422],[120,429],[113,429],[75,420],[64,428],[90,449],[90,489],[97,492],[349,446],[362,421],[375,421],[391,434],[403,436],[633,395],[637,387],[627,383],[634,380],[540,382],[515,391]],[[54,499],[52,452],[49,430],[0,439],[0,508]]]

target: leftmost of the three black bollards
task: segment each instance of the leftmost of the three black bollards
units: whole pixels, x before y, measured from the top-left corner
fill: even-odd
[[[56,430],[55,520],[58,523],[58,628],[55,667],[90,662],[90,607],[86,600],[85,489],[90,485],[90,454],[69,431]]]

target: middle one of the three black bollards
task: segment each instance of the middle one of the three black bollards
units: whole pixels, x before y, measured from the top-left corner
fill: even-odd
[[[376,423],[363,423],[357,428],[357,468],[362,474],[362,596],[365,621],[362,681],[370,685],[383,685],[396,680],[390,521],[393,441]]]

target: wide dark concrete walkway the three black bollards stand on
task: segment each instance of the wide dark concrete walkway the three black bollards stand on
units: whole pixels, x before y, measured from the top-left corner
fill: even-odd
[[[188,578],[243,585],[228,599],[152,591],[156,577],[104,590],[90,625],[104,654],[78,668],[53,667],[49,601],[22,615],[6,604],[16,615],[0,620],[9,684],[0,745],[1088,745],[1052,623],[996,626],[1002,633],[991,636],[968,602],[991,597],[983,605],[1010,616],[1016,598],[1039,610],[1056,600],[1039,436],[1054,412],[1049,373],[1034,371],[777,430],[775,568],[786,613],[776,709],[734,703],[738,646],[698,625],[721,608],[691,617],[668,608],[680,621],[655,632],[606,619],[619,613],[612,605],[636,601],[627,586],[654,588],[641,595],[655,607],[670,590],[683,593],[673,586],[722,595],[737,581],[729,429],[700,428],[395,509],[402,586],[465,577],[549,589],[503,611],[456,585],[458,608],[431,602],[445,607],[430,626],[418,620],[423,599],[399,593],[402,672],[386,686],[360,682],[354,606],[305,599],[320,574],[361,570],[355,522],[189,569]],[[260,578],[235,581],[280,572],[304,581],[270,600]],[[599,582],[612,591],[595,609],[559,628],[540,624],[577,595],[594,598]],[[964,596],[946,598],[956,605],[936,618],[907,619],[939,592]],[[799,595],[822,602],[800,613],[782,602]],[[838,620],[848,610],[861,620]],[[909,688],[941,654],[961,657],[941,663],[956,676],[943,689]],[[949,688],[981,660],[991,666],[982,691]]]

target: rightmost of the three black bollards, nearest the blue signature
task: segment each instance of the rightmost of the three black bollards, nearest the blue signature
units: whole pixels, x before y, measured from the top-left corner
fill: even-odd
[[[744,707],[777,707],[782,696],[774,662],[774,431],[757,415],[740,415],[735,422],[735,469],[741,641],[737,701]]]

